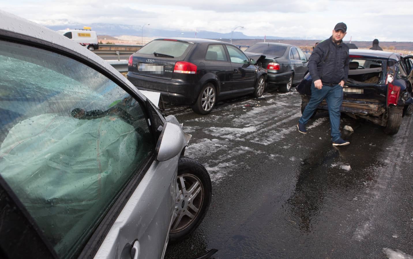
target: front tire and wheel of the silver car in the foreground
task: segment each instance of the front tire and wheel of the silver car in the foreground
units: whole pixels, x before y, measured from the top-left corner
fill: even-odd
[[[207,214],[211,194],[211,178],[205,167],[192,158],[180,157],[175,210],[169,231],[170,243],[183,240],[201,224]],[[193,216],[192,219],[188,213]]]

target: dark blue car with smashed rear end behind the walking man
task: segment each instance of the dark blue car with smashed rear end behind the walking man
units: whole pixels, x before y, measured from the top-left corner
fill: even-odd
[[[370,49],[350,49],[349,76],[343,87],[340,111],[384,126],[386,134],[399,131],[402,117],[413,112],[413,56]],[[311,75],[297,86],[301,112],[311,96]],[[319,110],[328,110],[325,101]]]

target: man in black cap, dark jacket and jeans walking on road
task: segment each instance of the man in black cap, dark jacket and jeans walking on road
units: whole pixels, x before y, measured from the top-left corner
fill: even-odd
[[[338,23],[332,36],[320,42],[311,53],[308,63],[313,83],[311,99],[297,124],[298,131],[306,134],[306,123],[323,99],[327,101],[330,115],[331,138],[333,146],[350,144],[341,138],[340,107],[343,102],[343,86],[349,73],[349,47],[343,42],[347,25]]]

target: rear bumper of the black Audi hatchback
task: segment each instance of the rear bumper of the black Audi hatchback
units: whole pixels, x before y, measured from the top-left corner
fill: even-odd
[[[149,78],[142,75],[135,75],[132,72],[128,72],[126,77],[140,90],[161,93],[162,99],[166,102],[191,105],[195,103],[197,99],[195,83],[185,83],[173,79]]]

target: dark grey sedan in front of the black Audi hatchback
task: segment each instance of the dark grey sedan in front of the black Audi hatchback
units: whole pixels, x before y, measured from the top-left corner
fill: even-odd
[[[245,54],[267,69],[268,83],[276,84],[281,92],[290,92],[308,72],[308,58],[293,45],[260,42],[246,49]]]

